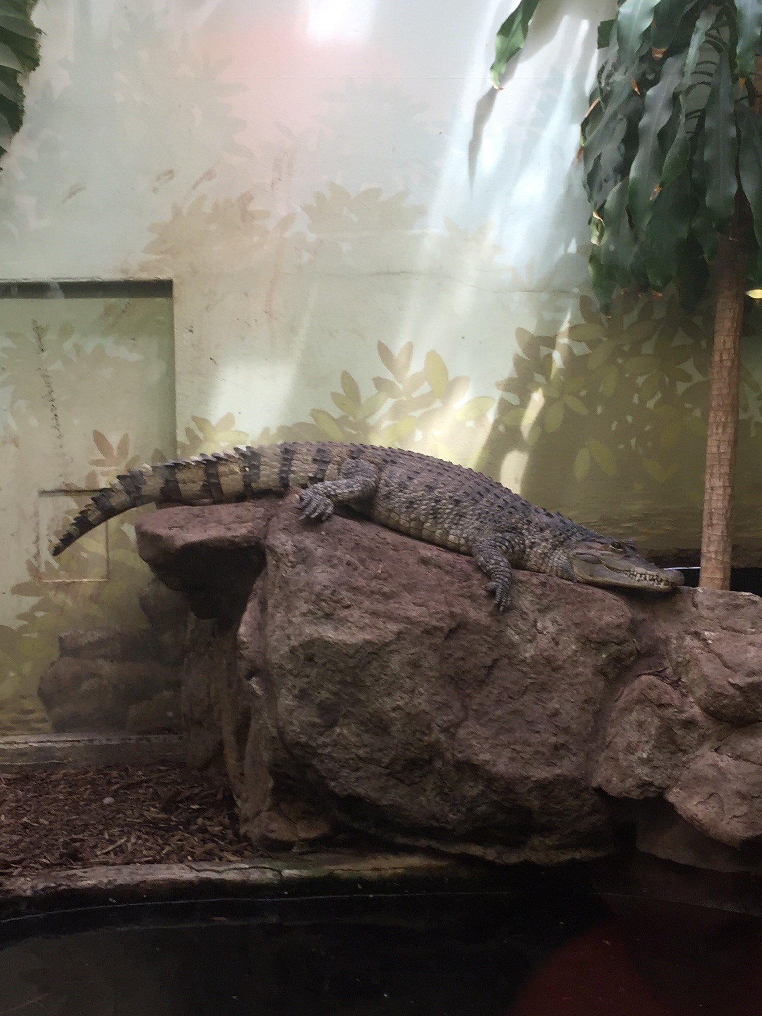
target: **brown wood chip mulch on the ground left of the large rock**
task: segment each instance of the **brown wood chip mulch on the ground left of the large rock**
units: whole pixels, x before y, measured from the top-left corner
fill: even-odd
[[[0,773],[0,877],[256,855],[229,788],[181,765]]]

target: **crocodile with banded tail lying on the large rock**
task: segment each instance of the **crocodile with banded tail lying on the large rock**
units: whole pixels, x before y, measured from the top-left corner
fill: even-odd
[[[472,469],[398,448],[334,441],[235,448],[152,465],[99,491],[52,550],[137,505],[218,504],[257,493],[302,488],[301,517],[326,521],[336,505],[390,529],[469,554],[489,578],[500,611],[511,596],[512,569],[570,582],[669,592],[676,570],[640,557],[630,541],[538,508]]]

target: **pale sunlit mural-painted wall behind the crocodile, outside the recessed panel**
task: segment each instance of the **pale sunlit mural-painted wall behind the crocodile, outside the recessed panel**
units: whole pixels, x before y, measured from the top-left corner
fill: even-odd
[[[498,93],[496,0],[40,0],[0,275],[172,279],[181,453],[287,434],[398,443],[649,547],[695,548],[707,308],[666,294],[605,320],[587,296],[574,158],[611,6],[544,4]],[[748,549],[756,348],[750,334]],[[165,433],[169,389],[140,391],[93,425],[112,446],[149,417]],[[96,453],[67,454],[81,471]]]

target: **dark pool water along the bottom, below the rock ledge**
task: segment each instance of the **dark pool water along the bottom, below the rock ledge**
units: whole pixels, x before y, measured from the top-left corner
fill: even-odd
[[[710,895],[576,872],[0,922],[0,1016],[762,1016],[762,918]]]

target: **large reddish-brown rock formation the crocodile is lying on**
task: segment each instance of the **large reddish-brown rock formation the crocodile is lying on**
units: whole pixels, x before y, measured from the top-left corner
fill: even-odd
[[[141,555],[199,619],[184,664],[191,761],[225,767],[253,841],[342,824],[549,862],[605,853],[623,814],[668,849],[666,809],[708,842],[702,856],[721,844],[720,867],[754,848],[757,597],[649,598],[518,572],[500,615],[469,558],[354,518],[304,524],[295,505],[138,523]]]

